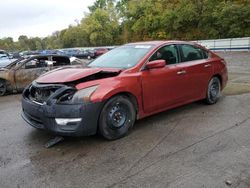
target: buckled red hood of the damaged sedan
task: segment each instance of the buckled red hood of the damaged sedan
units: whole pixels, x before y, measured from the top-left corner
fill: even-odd
[[[121,72],[119,69],[108,69],[108,68],[76,68],[76,67],[67,67],[67,68],[59,68],[56,70],[52,70],[41,75],[36,82],[42,84],[62,84],[78,81],[80,79],[87,78],[92,75],[102,74],[103,78],[108,77],[107,74],[110,75],[118,75]],[[114,73],[114,74],[112,74]],[[96,76],[96,79],[101,79],[101,76]],[[93,80],[93,79],[91,79]]]

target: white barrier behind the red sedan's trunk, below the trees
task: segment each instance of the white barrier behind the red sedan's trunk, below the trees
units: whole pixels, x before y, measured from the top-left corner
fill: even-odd
[[[250,37],[194,41],[213,51],[250,51]]]

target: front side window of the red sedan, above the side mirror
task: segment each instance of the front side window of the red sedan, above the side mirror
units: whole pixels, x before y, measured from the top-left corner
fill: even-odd
[[[149,59],[149,61],[163,59],[166,65],[176,64],[179,62],[178,50],[176,45],[167,45],[158,49]]]

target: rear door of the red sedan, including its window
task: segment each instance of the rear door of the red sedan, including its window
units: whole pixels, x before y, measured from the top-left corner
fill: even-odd
[[[207,85],[213,73],[213,64],[209,53],[191,44],[179,45],[181,64],[184,64],[188,79],[188,98],[201,99],[205,96]]]

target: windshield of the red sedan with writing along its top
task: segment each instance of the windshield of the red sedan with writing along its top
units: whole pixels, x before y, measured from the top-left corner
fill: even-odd
[[[151,49],[152,45],[126,45],[100,56],[89,67],[127,69],[135,66]]]

